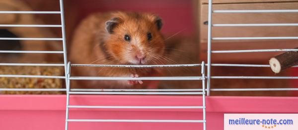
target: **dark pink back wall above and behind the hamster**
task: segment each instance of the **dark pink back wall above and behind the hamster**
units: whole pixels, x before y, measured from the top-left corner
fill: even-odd
[[[72,2],[78,9],[81,19],[92,12],[98,11],[145,11],[158,14],[163,18],[162,31],[173,35],[179,31],[182,35],[195,33],[195,0],[65,0]],[[67,6],[67,5],[66,5]],[[69,11],[66,8],[66,12]],[[70,12],[67,14],[71,14]]]

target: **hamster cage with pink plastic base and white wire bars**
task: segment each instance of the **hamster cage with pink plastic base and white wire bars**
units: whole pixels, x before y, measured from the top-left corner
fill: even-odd
[[[21,63],[15,60],[0,65],[63,67],[64,74],[8,73],[1,74],[0,77],[61,79],[66,88],[0,88],[0,91],[60,91],[65,94],[0,95],[0,128],[3,130],[224,130],[224,113],[298,113],[298,98],[295,97],[295,91],[298,90],[295,88],[297,66],[274,75],[266,64],[269,59],[264,61],[280,52],[297,51],[292,49],[296,47],[298,39],[295,37],[298,21],[292,17],[298,13],[298,3],[295,0],[25,1],[38,11],[28,8],[1,10],[0,14],[36,14],[45,24],[5,23],[0,24],[0,27],[49,28],[58,34],[57,37],[3,37],[0,40],[54,41],[60,45],[53,47],[56,50],[50,51],[2,50],[0,53],[54,54],[54,61],[57,58],[60,61]],[[158,4],[153,4],[154,2]],[[167,8],[162,8],[163,6]],[[200,54],[193,53],[200,58],[194,58],[196,62],[192,64],[182,61],[173,65],[94,65],[69,62],[67,51],[71,50],[67,50],[69,44],[66,39],[71,38],[71,33],[68,32],[72,32],[79,19],[87,14],[109,9],[163,12],[161,16],[168,19],[166,23],[170,24],[163,33],[175,35],[187,26],[181,35],[186,38],[191,35],[199,37],[194,41],[200,44],[190,48],[192,51],[200,48]],[[200,17],[192,19],[189,13]],[[173,18],[175,16],[172,14],[181,18]],[[53,21],[54,17],[58,17],[60,22]],[[197,27],[199,31],[194,29]],[[242,35],[241,32],[244,31],[245,35]],[[187,43],[189,41],[182,45],[186,46]],[[268,46],[270,44],[273,46]],[[77,76],[72,75],[73,67],[193,69],[191,74],[182,76],[132,78]],[[164,84],[174,82],[178,85],[161,87],[162,89],[84,89],[72,88],[71,83],[72,80],[134,79],[169,80]],[[177,83],[175,80],[196,82]]]

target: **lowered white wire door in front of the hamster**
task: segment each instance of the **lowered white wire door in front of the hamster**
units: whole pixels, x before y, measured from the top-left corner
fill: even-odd
[[[168,76],[168,77],[91,77],[91,76],[71,76],[72,66],[87,67],[183,67],[201,66],[202,76]],[[203,123],[206,130],[206,103],[205,103],[205,63],[193,65],[72,65],[68,64],[67,73],[67,110],[66,110],[66,130],[69,122],[134,122],[134,123]],[[202,80],[202,89],[71,89],[71,80]],[[70,104],[71,94],[117,94],[117,95],[202,95],[202,106],[78,106]],[[203,120],[118,120],[118,119],[69,119],[70,108],[88,109],[203,109]]]

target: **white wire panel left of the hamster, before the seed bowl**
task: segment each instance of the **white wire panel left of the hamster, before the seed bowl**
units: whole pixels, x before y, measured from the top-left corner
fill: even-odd
[[[13,51],[13,50],[0,50],[0,53],[5,54],[60,54],[63,55],[64,63],[61,64],[36,64],[36,63],[0,63],[1,66],[64,66],[64,70],[66,73],[67,69],[67,51],[66,51],[66,35],[65,35],[65,22],[64,22],[64,8],[63,8],[63,0],[60,0],[60,11],[0,11],[0,14],[57,14],[61,17],[61,24],[59,25],[42,25],[42,24],[0,24],[0,27],[34,27],[34,28],[61,28],[62,37],[61,38],[14,38],[14,37],[1,37],[0,40],[29,40],[29,41],[58,41],[63,44],[63,51]],[[61,75],[25,75],[25,74],[0,74],[0,77],[13,77],[13,78],[59,78],[65,79],[65,76]],[[0,88],[0,91],[66,91],[64,88]]]

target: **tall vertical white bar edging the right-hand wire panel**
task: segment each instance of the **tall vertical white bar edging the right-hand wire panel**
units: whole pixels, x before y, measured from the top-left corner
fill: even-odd
[[[211,27],[212,27],[212,0],[208,0],[208,59],[207,59],[207,96],[210,95],[211,80]]]

